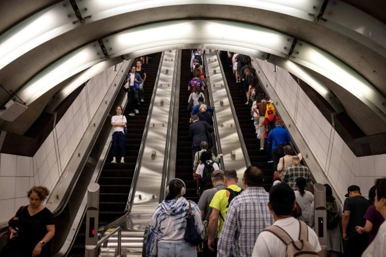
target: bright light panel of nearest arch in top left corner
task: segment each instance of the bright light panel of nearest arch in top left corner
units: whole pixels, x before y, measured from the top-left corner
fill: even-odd
[[[70,17],[68,17],[70,15]],[[80,26],[69,0],[52,5],[0,36],[0,69],[38,45]]]

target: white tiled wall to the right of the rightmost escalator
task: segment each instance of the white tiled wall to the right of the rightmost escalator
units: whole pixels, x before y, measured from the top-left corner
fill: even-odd
[[[287,71],[278,67],[278,72],[273,72],[272,64],[262,60],[257,63],[263,72],[257,75],[263,84],[273,85],[341,200],[353,184],[360,186],[362,195],[367,196],[374,180],[386,176],[386,154],[355,156]]]

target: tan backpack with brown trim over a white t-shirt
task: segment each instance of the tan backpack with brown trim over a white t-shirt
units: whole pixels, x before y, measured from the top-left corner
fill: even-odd
[[[286,247],[286,256],[315,257],[318,254],[308,242],[308,228],[306,223],[299,220],[300,232],[299,239],[294,241],[288,233],[281,227],[273,225],[263,231],[271,232],[278,237]]]

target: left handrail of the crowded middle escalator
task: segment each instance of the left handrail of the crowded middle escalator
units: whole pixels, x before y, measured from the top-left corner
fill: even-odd
[[[174,109],[174,99],[175,95],[174,92],[176,91],[176,80],[179,75],[178,71],[181,69],[181,58],[178,57],[180,50],[176,50],[176,58],[174,60],[174,69],[173,69],[173,81],[172,81],[172,91],[171,91],[171,97],[170,97],[170,109],[169,113],[169,119],[168,119],[168,131],[166,132],[166,144],[165,144],[165,155],[164,155],[164,166],[162,168],[162,180],[161,180],[161,191],[159,193],[159,202],[162,202],[164,199],[164,193],[165,193],[165,188],[166,188],[166,182],[168,180],[168,167],[170,164],[170,148],[171,148],[171,133],[173,131],[172,128],[172,120],[174,118],[174,115],[178,115],[178,110],[175,112]]]

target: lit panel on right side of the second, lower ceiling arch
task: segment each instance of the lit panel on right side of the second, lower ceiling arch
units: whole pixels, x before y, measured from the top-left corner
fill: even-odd
[[[366,79],[332,55],[298,40],[289,60],[301,64],[331,79],[385,119],[386,99]],[[383,114],[379,113],[379,108]]]

